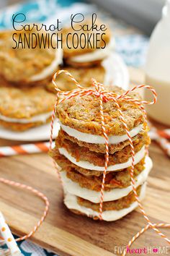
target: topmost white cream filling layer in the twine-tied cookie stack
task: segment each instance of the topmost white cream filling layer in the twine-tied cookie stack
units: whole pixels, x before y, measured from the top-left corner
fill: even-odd
[[[61,121],[60,121],[61,124]],[[69,136],[75,137],[77,140],[92,143],[92,144],[104,144],[105,140],[104,137],[99,135],[90,135],[85,132],[79,132],[77,129],[73,129],[71,127],[68,127],[64,124],[61,124],[61,128],[64,132],[66,132]],[[138,135],[138,133],[143,129],[143,124],[138,125],[138,127],[135,127],[131,129],[130,136],[134,137],[135,135]],[[128,135],[114,135],[109,136],[109,144],[118,144],[120,142],[124,142],[125,140],[128,140]]]

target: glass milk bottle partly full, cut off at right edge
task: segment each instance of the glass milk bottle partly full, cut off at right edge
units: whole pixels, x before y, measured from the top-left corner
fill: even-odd
[[[146,85],[156,89],[155,105],[147,106],[148,116],[170,126],[170,0],[162,10],[162,18],[151,35],[146,61]],[[146,89],[145,98],[151,101]]]

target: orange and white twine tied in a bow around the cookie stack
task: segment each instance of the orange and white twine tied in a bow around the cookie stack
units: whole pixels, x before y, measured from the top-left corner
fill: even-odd
[[[81,90],[77,90],[76,89],[76,90],[66,91],[66,92],[61,91],[58,88],[58,86],[56,85],[56,83],[55,83],[56,77],[58,77],[58,75],[61,74],[61,73],[67,74],[71,78],[71,80],[73,80],[73,82],[76,84],[77,88],[79,88]],[[140,202],[140,200],[138,198],[138,194],[137,194],[136,189],[135,189],[135,180],[133,178],[134,157],[135,157],[133,141],[132,141],[132,138],[130,136],[130,132],[129,132],[128,126],[127,126],[127,124],[125,122],[124,116],[122,114],[121,108],[120,108],[119,103],[118,103],[119,99],[122,99],[123,101],[135,103],[143,111],[143,114],[146,117],[146,111],[143,108],[142,104],[151,105],[151,104],[156,103],[156,97],[157,97],[156,91],[151,86],[148,86],[148,85],[138,85],[138,86],[135,86],[134,88],[128,90],[127,92],[122,93],[121,95],[119,95],[117,93],[112,93],[112,92],[109,92],[107,90],[104,90],[104,86],[101,83],[99,83],[96,80],[94,80],[94,79],[92,80],[92,87],[86,89],[86,88],[81,87],[81,85],[79,85],[79,83],[74,79],[74,77],[69,72],[67,72],[66,70],[59,70],[58,72],[56,72],[54,74],[54,76],[53,76],[53,85],[55,86],[55,90],[57,92],[57,95],[56,95],[56,102],[55,102],[55,107],[54,107],[54,110],[53,110],[52,121],[51,121],[50,150],[52,149],[53,121],[54,121],[54,117],[55,117],[56,106],[58,104],[62,103],[63,101],[66,101],[66,100],[68,100],[70,98],[76,97],[77,95],[79,95],[80,97],[81,96],[85,96],[85,95],[94,95],[94,96],[99,98],[100,116],[101,116],[101,123],[102,123],[102,132],[103,132],[103,135],[104,135],[105,148],[106,148],[105,165],[104,165],[104,172],[103,172],[103,179],[102,179],[102,188],[101,188],[101,197],[100,197],[100,206],[99,206],[99,219],[102,220],[102,205],[103,205],[103,200],[104,200],[104,198],[103,198],[104,182],[105,182],[105,176],[106,176],[106,172],[107,172],[107,166],[108,166],[108,163],[109,163],[109,142],[108,142],[108,136],[107,136],[105,122],[104,122],[103,101],[106,102],[106,101],[112,100],[112,101],[115,102],[115,105],[117,106],[117,110],[119,111],[119,114],[120,114],[120,119],[122,120],[122,124],[123,124],[123,126],[125,128],[125,132],[128,135],[128,140],[130,142],[131,156],[132,156],[132,165],[131,165],[131,169],[130,169],[130,178],[131,178],[131,184],[132,184],[132,187],[133,187],[133,192],[135,194],[135,200],[137,200],[137,202],[138,202],[138,206],[140,208],[141,213],[143,214],[143,217],[148,222],[147,226],[145,226],[143,229],[141,229],[138,232],[138,234],[133,236],[133,239],[131,239],[130,242],[128,243],[128,247],[130,247],[130,245],[133,244],[135,239],[137,239],[138,236],[140,236],[140,234],[143,234],[143,232],[146,231],[149,228],[151,228],[154,231],[156,231],[156,233],[159,236],[162,236],[166,240],[166,242],[170,243],[170,240],[163,233],[161,233],[161,231],[158,230],[159,227],[170,227],[170,224],[169,223],[167,223],[167,224],[166,223],[151,223],[150,219],[146,215],[146,212],[143,209],[143,206],[141,205],[141,202]],[[146,89],[151,90],[151,92],[153,93],[153,101],[151,101],[151,102],[143,101],[143,100],[140,100],[140,99],[132,98],[132,97],[130,97],[128,95],[130,92],[133,92],[134,90],[140,89],[140,88],[146,88]],[[62,96],[62,97],[60,98],[60,96]],[[58,173],[58,176],[60,176],[59,173]],[[124,251],[122,253],[122,256],[125,256],[125,255],[126,255],[126,251]]]

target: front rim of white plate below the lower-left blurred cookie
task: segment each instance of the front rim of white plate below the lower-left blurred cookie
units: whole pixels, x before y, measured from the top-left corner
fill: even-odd
[[[53,127],[53,139],[57,137],[60,124],[55,120]],[[6,140],[20,141],[40,141],[50,140],[50,124],[28,129],[25,132],[13,132],[8,129],[0,128],[0,137]]]

